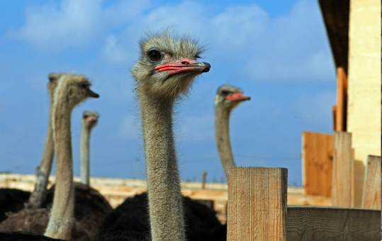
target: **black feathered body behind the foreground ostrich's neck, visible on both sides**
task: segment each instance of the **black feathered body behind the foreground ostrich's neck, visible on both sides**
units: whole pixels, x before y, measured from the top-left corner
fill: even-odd
[[[147,193],[126,198],[120,206],[111,211],[103,220],[97,241],[114,239],[119,241],[150,240],[150,220],[147,203]],[[220,223],[213,209],[185,196],[182,196],[182,203],[186,240],[226,240],[227,225]],[[128,230],[128,232],[125,230]]]

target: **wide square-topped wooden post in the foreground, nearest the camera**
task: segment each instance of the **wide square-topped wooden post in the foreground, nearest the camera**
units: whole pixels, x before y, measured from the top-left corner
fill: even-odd
[[[227,241],[286,240],[288,169],[230,167]]]

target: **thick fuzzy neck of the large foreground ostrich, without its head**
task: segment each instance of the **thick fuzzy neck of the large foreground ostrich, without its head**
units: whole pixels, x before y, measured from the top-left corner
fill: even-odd
[[[140,95],[140,103],[152,240],[185,240],[172,102],[157,103]]]

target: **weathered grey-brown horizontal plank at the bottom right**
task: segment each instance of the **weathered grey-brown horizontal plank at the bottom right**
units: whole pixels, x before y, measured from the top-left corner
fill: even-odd
[[[288,206],[286,240],[373,241],[380,225],[380,210]]]

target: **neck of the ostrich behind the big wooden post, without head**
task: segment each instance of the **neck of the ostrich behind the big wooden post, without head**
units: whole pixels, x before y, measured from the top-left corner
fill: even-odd
[[[223,106],[216,106],[215,111],[216,143],[218,145],[220,161],[225,172],[225,178],[228,180],[228,167],[236,166],[230,143],[230,110]]]

